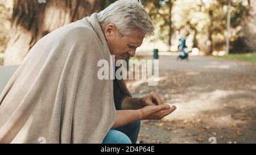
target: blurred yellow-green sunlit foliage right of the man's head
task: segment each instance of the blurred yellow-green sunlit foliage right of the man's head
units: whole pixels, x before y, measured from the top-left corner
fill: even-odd
[[[236,43],[236,40],[242,36],[241,27],[248,15],[249,7],[246,0],[230,1],[232,27],[230,40]],[[161,39],[166,43],[170,39],[170,33],[179,32],[183,36],[193,33],[193,47],[197,47],[199,43],[205,44],[210,38],[215,49],[224,48],[227,0],[145,0],[143,2],[156,27],[156,36],[152,41]]]

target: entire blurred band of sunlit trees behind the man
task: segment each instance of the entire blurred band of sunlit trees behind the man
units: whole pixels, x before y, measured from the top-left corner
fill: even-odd
[[[100,11],[114,1],[90,1],[89,4],[96,9],[83,8],[79,10],[81,13],[76,13],[78,15],[74,15],[74,8],[65,8],[68,6],[61,1],[14,2],[13,0],[0,1],[0,64],[3,64],[5,56],[3,53],[6,53],[6,65],[19,64],[40,37],[57,27],[79,19],[80,16],[82,18],[91,14],[90,11]],[[86,5],[86,1],[84,2]],[[77,5],[76,1],[69,3]],[[177,52],[180,37],[187,39],[186,44],[192,55],[223,56],[227,54],[227,39],[230,42],[229,53],[256,51],[255,1],[144,0],[142,3],[154,22],[155,34],[144,40],[138,52],[152,52],[154,48],[162,52]],[[81,3],[81,7],[82,5]],[[14,14],[13,10],[15,10]],[[230,13],[230,19],[228,19],[228,13]],[[49,16],[52,19],[58,19],[49,22],[51,19]],[[230,26],[227,26],[228,20]],[[13,23],[12,27],[11,23]],[[17,49],[23,52],[17,52]]]

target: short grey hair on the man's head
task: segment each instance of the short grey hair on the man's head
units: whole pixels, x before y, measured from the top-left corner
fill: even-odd
[[[102,30],[112,23],[117,27],[121,36],[129,36],[134,30],[141,30],[150,36],[154,26],[150,16],[141,3],[135,0],[119,0],[97,14]]]

